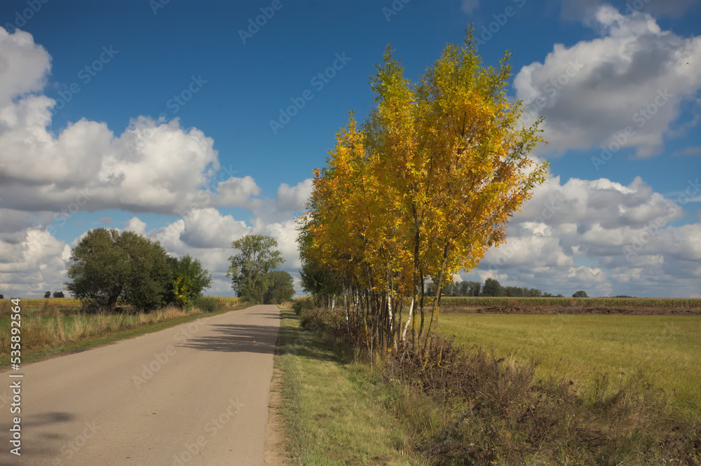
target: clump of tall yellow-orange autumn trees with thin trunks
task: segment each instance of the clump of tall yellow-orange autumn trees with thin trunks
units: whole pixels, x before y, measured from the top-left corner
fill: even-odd
[[[540,121],[519,128],[522,103],[509,102],[509,77],[508,54],[497,69],[481,66],[472,32],[414,84],[388,48],[370,78],[376,107],[362,124],[351,113],[315,170],[304,260],[338,277],[356,341],[385,347],[403,338],[397,298],[409,295],[409,316],[415,304],[422,315],[421,331],[412,321],[416,348],[426,277],[442,289],[447,277],[475,267],[545,180],[547,163],[528,156],[542,142]],[[424,348],[440,294],[430,306]]]

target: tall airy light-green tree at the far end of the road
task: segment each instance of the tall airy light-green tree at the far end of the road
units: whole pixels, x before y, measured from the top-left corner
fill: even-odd
[[[268,272],[283,263],[280,251],[273,249],[278,242],[270,236],[245,235],[231,243],[240,252],[229,257],[231,267],[226,273],[231,277],[231,287],[236,296],[245,301],[263,302],[263,296],[271,285]]]

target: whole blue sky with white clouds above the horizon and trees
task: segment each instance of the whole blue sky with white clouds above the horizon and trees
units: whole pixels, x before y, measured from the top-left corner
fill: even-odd
[[[200,258],[210,294],[231,294],[246,233],[277,238],[297,275],[311,170],[372,108],[386,45],[416,79],[472,23],[484,64],[509,50],[510,97],[545,116],[533,155],[552,178],[461,277],[698,296],[700,20],[689,0],[5,1],[0,293],[63,289],[70,245],[100,226]]]

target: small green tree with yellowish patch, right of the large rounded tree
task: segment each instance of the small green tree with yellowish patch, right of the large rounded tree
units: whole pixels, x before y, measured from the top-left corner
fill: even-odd
[[[172,271],[172,280],[168,302],[176,306],[189,306],[202,296],[202,292],[212,286],[212,275],[202,268],[198,259],[190,254],[169,257],[168,264]]]

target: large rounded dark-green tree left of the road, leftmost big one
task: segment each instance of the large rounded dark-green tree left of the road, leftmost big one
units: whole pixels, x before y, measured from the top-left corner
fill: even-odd
[[[114,310],[118,299],[139,310],[162,306],[170,285],[168,254],[130,231],[90,230],[73,248],[66,289],[89,308]]]

